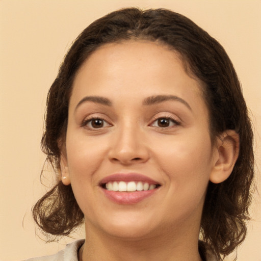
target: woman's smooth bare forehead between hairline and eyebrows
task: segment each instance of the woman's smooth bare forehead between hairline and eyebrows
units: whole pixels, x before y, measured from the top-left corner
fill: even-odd
[[[88,57],[75,76],[70,105],[88,95],[137,100],[168,94],[190,94],[190,102],[204,102],[199,81],[188,75],[176,51],[159,43],[127,41],[102,45]]]

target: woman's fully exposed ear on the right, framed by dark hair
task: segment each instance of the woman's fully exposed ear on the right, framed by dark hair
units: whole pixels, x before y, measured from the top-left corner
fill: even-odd
[[[210,174],[210,181],[220,183],[231,174],[239,156],[239,135],[232,130],[225,131],[216,142],[214,167]]]

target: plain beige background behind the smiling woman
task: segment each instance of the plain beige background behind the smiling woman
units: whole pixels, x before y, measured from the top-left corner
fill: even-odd
[[[94,19],[127,6],[180,12],[221,42],[236,67],[253,114],[260,169],[260,0],[0,0],[1,260],[55,253],[73,240],[45,244],[35,236],[31,218],[31,206],[46,190],[40,184],[44,155],[39,146],[45,98],[71,41]],[[260,172],[257,177],[260,188]],[[261,260],[257,193],[252,216],[248,237],[238,252],[239,261]],[[74,237],[83,235],[79,231]]]

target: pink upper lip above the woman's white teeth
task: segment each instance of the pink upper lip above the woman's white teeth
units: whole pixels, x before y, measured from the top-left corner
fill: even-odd
[[[158,181],[155,181],[148,176],[132,172],[132,173],[115,173],[115,174],[112,174],[105,178],[102,178],[100,180],[100,186],[102,186],[110,181],[111,182],[113,182],[113,181],[125,181],[125,182],[141,181],[141,182],[147,182],[149,185],[150,184],[160,185],[160,183]]]

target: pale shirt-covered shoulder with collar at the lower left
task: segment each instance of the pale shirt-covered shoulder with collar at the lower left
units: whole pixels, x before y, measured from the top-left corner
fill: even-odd
[[[78,261],[78,250],[83,245],[84,239],[74,241],[67,244],[65,249],[54,255],[45,255],[41,257],[33,257],[23,261]]]

